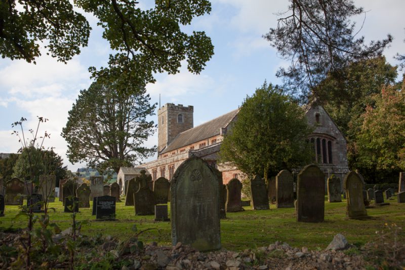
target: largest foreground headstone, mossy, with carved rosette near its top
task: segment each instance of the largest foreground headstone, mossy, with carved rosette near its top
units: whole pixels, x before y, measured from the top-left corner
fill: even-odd
[[[221,248],[220,190],[217,175],[204,160],[191,157],[171,182],[172,244],[181,242],[199,251]]]

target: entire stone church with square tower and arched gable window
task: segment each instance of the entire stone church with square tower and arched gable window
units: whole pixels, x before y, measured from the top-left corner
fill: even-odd
[[[217,164],[223,136],[232,121],[235,121],[238,111],[230,111],[194,127],[193,106],[165,104],[157,111],[157,160],[141,167],[152,175],[152,180],[159,177],[171,180],[181,163],[189,157],[197,156],[222,172],[224,184],[232,178],[243,178],[244,174],[237,168]],[[334,174],[343,181],[349,171],[345,138],[323,107],[309,106],[306,117],[308,123],[315,127],[308,138],[315,152],[314,163],[317,163],[326,177]]]

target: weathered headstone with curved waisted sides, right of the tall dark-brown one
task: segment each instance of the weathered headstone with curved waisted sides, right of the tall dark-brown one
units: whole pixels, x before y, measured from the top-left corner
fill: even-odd
[[[346,174],[343,188],[346,190],[346,216],[349,218],[365,218],[367,210],[363,198],[363,182],[354,171]]]

